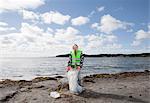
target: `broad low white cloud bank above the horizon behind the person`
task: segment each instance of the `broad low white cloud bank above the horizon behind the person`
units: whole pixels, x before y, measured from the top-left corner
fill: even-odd
[[[77,43],[84,53],[109,53],[118,51],[121,44],[115,35],[83,35],[73,27],[65,29],[47,28],[22,23],[20,32],[0,36],[1,56],[50,56],[69,53]]]

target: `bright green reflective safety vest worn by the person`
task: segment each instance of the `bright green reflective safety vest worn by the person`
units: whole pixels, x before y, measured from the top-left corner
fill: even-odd
[[[71,56],[72,56],[72,65],[80,65],[81,51],[77,50],[76,55],[75,52],[72,51]]]

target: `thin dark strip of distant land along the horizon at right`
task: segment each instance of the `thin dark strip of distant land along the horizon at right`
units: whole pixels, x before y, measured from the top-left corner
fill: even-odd
[[[150,53],[139,54],[83,54],[85,57],[150,57]],[[69,54],[57,55],[56,57],[68,57]]]

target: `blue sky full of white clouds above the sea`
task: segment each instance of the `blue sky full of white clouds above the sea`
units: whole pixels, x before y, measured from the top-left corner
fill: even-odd
[[[150,0],[0,0],[0,57],[150,52]]]

